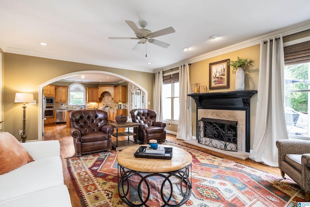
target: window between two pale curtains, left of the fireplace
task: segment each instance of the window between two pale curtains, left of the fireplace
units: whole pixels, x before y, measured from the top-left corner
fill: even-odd
[[[179,73],[163,77],[163,119],[166,121],[179,120]]]

